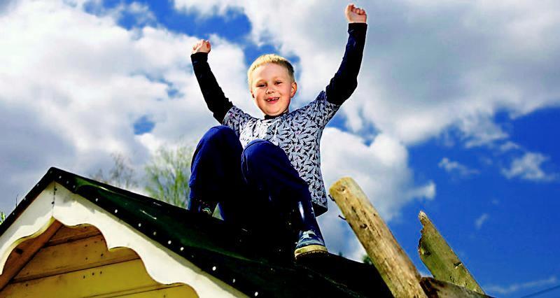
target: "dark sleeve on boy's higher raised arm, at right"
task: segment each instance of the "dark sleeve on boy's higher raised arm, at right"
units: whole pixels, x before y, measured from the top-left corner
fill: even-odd
[[[362,64],[366,30],[365,23],[348,24],[348,43],[342,63],[325,90],[327,101],[331,104],[342,104],[358,87],[358,72]]]

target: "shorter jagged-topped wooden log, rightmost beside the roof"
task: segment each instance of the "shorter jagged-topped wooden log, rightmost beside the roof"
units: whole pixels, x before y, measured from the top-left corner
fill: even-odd
[[[418,253],[433,277],[484,294],[465,264],[459,260],[440,232],[437,232],[428,215],[420,211],[418,217],[422,223]]]

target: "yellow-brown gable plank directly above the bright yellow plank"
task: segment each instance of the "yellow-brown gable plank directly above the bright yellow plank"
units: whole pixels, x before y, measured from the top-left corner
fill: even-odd
[[[138,259],[134,250],[115,248],[109,251],[103,236],[97,235],[41,248],[13,281],[28,281],[134,259]]]

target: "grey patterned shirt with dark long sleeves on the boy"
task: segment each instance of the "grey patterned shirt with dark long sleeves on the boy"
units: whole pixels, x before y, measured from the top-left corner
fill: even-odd
[[[328,121],[358,86],[366,29],[365,23],[349,24],[342,63],[325,91],[321,91],[314,101],[289,113],[275,117],[265,115],[264,119],[244,113],[225,97],[207,62],[207,53],[191,55],[204,101],[214,118],[231,127],[244,148],[254,139],[265,139],[282,148],[297,173],[309,185],[316,215],[327,211],[319,151],[321,135]]]

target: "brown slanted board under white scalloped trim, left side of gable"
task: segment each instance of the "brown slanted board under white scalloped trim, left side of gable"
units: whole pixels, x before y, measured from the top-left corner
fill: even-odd
[[[6,264],[4,265],[3,273],[0,275],[0,290],[6,287],[10,280],[18,274],[18,272],[31,260],[35,253],[54,235],[57,230],[62,227],[62,224],[55,220],[43,232],[43,234],[33,239],[28,239],[12,250]],[[5,297],[1,296],[0,297]]]

